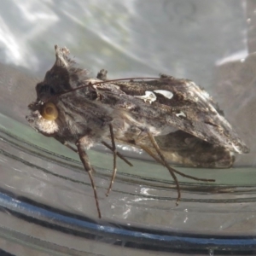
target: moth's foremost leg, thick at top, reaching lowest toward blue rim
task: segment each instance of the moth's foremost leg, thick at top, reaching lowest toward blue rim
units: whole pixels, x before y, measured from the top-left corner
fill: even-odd
[[[83,139],[83,137],[80,138],[79,141],[76,143],[76,145],[78,147],[78,151],[79,151],[79,157],[80,157],[80,160],[82,161],[82,163],[84,165],[85,171],[88,173],[88,175],[90,177],[90,183],[91,183],[91,187],[92,187],[93,192],[94,192],[94,198],[95,198],[95,201],[96,201],[98,216],[99,216],[99,218],[102,218],[102,214],[101,214],[101,210],[100,210],[100,206],[99,206],[99,201],[98,201],[98,196],[97,196],[97,191],[96,191],[96,185],[95,185],[93,177],[92,177],[92,167],[90,166],[90,160],[88,158],[88,154],[86,154],[86,152],[84,150],[84,144],[82,143],[82,139]]]

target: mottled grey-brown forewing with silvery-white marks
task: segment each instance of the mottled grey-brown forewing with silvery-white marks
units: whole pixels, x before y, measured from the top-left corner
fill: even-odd
[[[113,108],[128,111],[137,119],[145,118],[148,123],[158,127],[158,123],[172,125],[236,153],[249,151],[224,118],[218,104],[192,81],[165,77],[148,82],[131,81],[115,85],[119,86],[119,95],[106,89],[102,91],[102,102],[111,104]],[[156,96],[153,102],[147,101],[146,90]],[[171,91],[172,97],[168,98],[163,91]]]

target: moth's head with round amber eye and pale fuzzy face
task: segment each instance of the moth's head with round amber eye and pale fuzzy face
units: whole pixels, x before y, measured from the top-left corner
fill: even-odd
[[[47,136],[53,136],[59,131],[59,125],[56,122],[59,112],[53,102],[32,102],[28,105],[31,115],[26,116],[26,120],[35,130]]]

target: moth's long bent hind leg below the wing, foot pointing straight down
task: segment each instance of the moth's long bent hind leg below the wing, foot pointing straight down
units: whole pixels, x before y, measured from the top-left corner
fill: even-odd
[[[176,183],[176,187],[177,187],[177,201],[176,201],[176,205],[178,205],[178,202],[180,201],[180,198],[181,198],[181,193],[180,193],[179,183],[178,183],[177,177],[175,175],[175,171],[176,170],[172,169],[172,167],[168,165],[164,155],[161,153],[161,150],[160,150],[158,144],[156,143],[156,141],[154,139],[154,136],[149,131],[148,131],[148,138],[149,138],[150,142],[152,143],[156,153],[159,155],[159,157],[160,157],[160,159],[162,161],[163,166],[166,166],[166,168],[168,169],[168,171],[172,175],[172,178],[173,178],[174,182]]]

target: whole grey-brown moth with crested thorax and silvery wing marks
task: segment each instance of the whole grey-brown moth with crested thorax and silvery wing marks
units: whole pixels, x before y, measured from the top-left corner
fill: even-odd
[[[169,161],[202,167],[230,167],[234,153],[249,149],[224,118],[224,112],[206,90],[188,79],[160,75],[156,79],[107,79],[101,70],[91,79],[87,70],[69,58],[67,48],[55,45],[55,64],[36,85],[37,99],[28,105],[29,124],[46,137],[79,154],[94,190],[99,218],[102,214],[86,150],[103,143],[113,152],[113,176],[117,157],[131,163],[116,150],[115,143],[143,148],[165,166],[177,186],[178,172]],[[110,141],[110,144],[108,143]],[[70,143],[73,143],[74,148]]]

